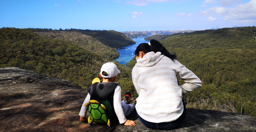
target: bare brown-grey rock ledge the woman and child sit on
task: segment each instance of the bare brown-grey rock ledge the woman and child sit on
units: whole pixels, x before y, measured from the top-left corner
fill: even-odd
[[[79,121],[79,111],[87,95],[72,82],[36,74],[16,67],[0,68],[0,132],[21,131],[116,131],[160,132],[145,127],[136,112],[128,119],[136,126],[105,125]],[[214,110],[187,109],[183,123],[170,132],[253,132],[256,117]]]

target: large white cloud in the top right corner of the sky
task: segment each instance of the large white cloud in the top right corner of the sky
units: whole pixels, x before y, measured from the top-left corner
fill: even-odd
[[[223,20],[256,20],[256,0],[228,9],[229,14]]]

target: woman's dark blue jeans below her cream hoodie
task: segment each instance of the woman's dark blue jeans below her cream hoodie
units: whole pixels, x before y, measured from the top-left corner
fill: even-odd
[[[153,122],[149,122],[149,121],[146,121],[146,120],[142,119],[139,116],[139,114],[137,113],[137,111],[136,111],[136,113],[138,115],[138,118],[142,122],[142,124],[144,124],[146,127],[150,128],[150,129],[171,130],[171,129],[174,129],[174,128],[178,127],[186,117],[187,108],[186,108],[186,104],[184,102],[184,99],[182,99],[182,102],[183,102],[183,106],[184,106],[183,113],[177,120],[172,121],[172,122],[153,123]]]

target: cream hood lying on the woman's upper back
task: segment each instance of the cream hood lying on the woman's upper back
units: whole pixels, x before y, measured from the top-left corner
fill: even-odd
[[[161,52],[148,52],[142,58],[138,59],[135,65],[138,67],[154,66],[158,61],[160,61],[164,57],[164,55],[161,54]]]

